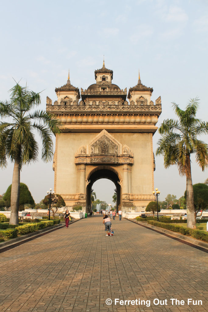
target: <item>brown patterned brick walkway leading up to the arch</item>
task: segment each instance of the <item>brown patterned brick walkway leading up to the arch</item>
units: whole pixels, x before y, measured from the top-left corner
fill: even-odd
[[[205,252],[124,219],[112,223],[113,237],[98,216],[3,252],[0,311],[208,311]],[[150,306],[108,306],[108,298]],[[157,298],[167,305],[154,305]]]

